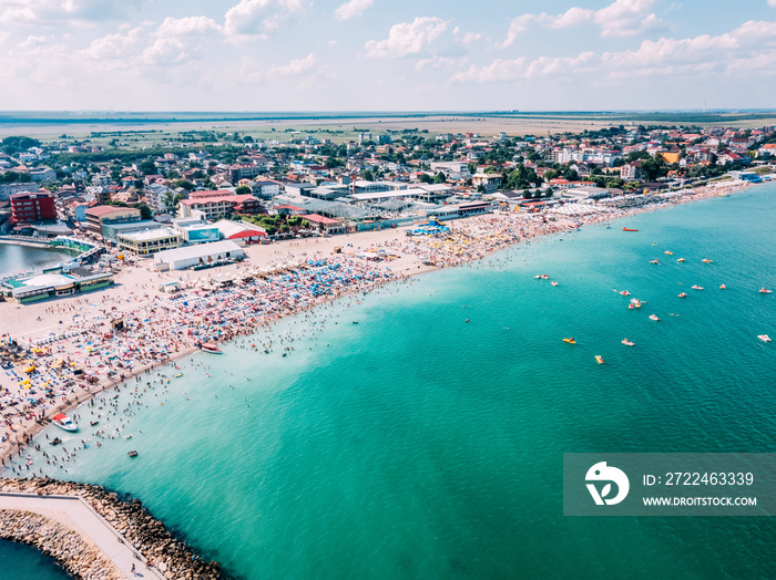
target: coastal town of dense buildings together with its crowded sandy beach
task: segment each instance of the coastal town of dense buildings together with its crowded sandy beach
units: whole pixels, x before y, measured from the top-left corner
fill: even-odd
[[[63,412],[123,383],[151,385],[154,366],[219,352],[282,317],[539,236],[768,180],[772,130],[360,133],[344,145],[232,134],[207,149],[137,153],[131,165],[86,160],[110,154],[83,143],[67,154],[43,144],[11,151],[0,159],[0,241],[69,255],[0,281],[2,466],[42,476],[25,448]],[[82,160],[52,163],[61,156]],[[251,348],[278,346],[269,338]]]

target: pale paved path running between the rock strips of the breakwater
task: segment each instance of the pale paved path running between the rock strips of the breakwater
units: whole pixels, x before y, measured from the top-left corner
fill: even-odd
[[[86,501],[71,496],[35,496],[29,494],[0,494],[0,509],[21,509],[50,518],[65,528],[78,531],[94,542],[113,560],[126,578],[164,580],[156,570],[145,568],[145,559]],[[136,557],[137,556],[137,557]],[[137,574],[132,573],[135,565]]]

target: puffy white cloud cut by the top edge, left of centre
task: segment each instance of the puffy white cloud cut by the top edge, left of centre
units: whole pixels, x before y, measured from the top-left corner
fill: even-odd
[[[229,34],[266,37],[308,7],[308,0],[241,0],[226,11],[224,29]]]

